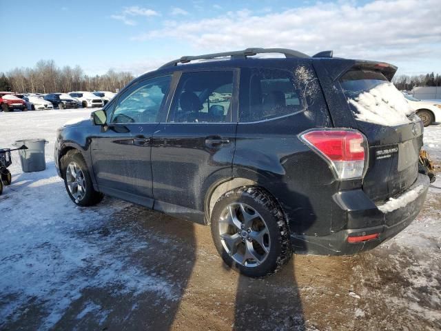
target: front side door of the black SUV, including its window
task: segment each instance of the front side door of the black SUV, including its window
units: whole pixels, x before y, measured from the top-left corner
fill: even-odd
[[[92,138],[93,169],[101,192],[152,208],[151,139],[171,81],[170,75],[140,81],[107,110],[107,130]]]

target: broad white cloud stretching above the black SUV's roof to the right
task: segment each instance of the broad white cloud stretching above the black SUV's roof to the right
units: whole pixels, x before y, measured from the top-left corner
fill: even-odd
[[[131,39],[184,39],[203,52],[283,47],[308,54],[334,49],[340,57],[383,61],[439,59],[439,5],[439,0],[377,0],[364,6],[316,3],[265,14],[240,10],[163,26]]]

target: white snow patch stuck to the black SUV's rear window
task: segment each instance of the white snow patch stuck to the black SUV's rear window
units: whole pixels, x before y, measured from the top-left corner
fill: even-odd
[[[360,121],[382,126],[400,126],[409,123],[407,118],[413,112],[409,103],[392,83],[382,83],[369,92],[362,92],[355,99],[349,99]]]

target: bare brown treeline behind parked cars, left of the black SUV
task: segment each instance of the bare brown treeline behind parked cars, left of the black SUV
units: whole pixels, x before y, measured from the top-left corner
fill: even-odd
[[[34,68],[15,68],[0,76],[0,91],[19,93],[71,92],[76,90],[121,90],[133,79],[130,72],[115,72],[88,76],[80,66],[59,68],[54,60],[40,60]]]

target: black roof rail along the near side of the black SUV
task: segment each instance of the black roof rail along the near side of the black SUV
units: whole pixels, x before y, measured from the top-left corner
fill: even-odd
[[[294,57],[298,59],[309,58],[309,55],[304,54],[302,52],[298,52],[297,50],[289,50],[287,48],[247,48],[246,50],[236,50],[233,52],[223,52],[223,53],[213,53],[213,54],[204,54],[197,56],[187,56],[181,57],[181,59],[176,59],[170,62],[165,63],[162,68],[174,67],[177,66],[178,63],[189,63],[194,60],[208,60],[215,59],[216,57],[231,57],[231,59],[246,59],[247,57],[252,57],[256,54],[263,53],[280,53],[284,54],[285,57]]]

